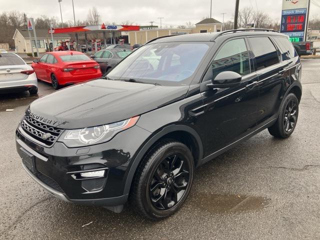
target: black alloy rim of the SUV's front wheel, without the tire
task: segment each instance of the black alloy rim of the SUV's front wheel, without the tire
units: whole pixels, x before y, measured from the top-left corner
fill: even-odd
[[[165,157],[149,182],[149,197],[158,210],[173,207],[183,196],[189,182],[189,167],[183,155]]]

